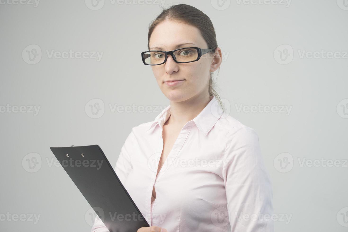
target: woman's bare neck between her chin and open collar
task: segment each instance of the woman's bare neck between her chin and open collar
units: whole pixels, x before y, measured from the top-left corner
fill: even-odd
[[[196,118],[210,100],[209,95],[205,94],[192,97],[182,102],[171,101],[171,115],[165,122],[165,125],[185,125],[188,121]]]

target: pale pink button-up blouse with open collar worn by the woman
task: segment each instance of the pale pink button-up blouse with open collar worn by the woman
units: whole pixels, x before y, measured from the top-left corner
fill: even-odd
[[[273,232],[272,186],[258,135],[210,99],[183,126],[157,177],[170,105],[155,121],[132,128],[115,172],[151,226],[168,232]],[[105,231],[97,217],[92,232]]]

